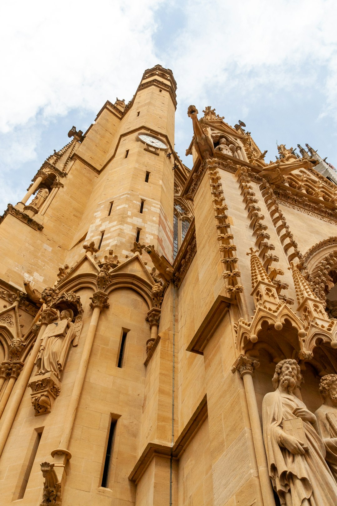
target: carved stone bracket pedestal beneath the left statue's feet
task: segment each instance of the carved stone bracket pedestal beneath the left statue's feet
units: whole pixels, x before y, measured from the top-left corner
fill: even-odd
[[[50,413],[54,400],[61,391],[61,382],[53,372],[37,374],[34,381],[28,383],[31,388],[31,401],[35,410],[35,416]]]

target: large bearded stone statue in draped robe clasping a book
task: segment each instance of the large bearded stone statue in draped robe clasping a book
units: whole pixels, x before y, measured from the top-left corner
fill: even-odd
[[[296,360],[278,362],[275,392],[262,403],[269,476],[282,506],[333,506],[337,484],[325,462],[316,416],[294,395],[302,375]]]

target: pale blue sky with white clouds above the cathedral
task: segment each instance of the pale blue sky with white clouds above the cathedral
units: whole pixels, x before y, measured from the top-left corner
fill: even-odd
[[[265,160],[308,143],[337,166],[335,0],[3,0],[0,215],[43,161],[85,132],[107,100],[128,102],[156,64],[177,81],[175,149],[187,107],[244,121]]]

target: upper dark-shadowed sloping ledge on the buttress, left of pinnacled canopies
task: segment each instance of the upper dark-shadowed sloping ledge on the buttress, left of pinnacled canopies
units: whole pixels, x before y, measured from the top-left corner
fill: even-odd
[[[231,304],[234,304],[232,299],[218,295],[211,309],[187,346],[186,351],[204,355],[205,346],[212,338],[212,335],[218,328],[225,314],[228,312]]]

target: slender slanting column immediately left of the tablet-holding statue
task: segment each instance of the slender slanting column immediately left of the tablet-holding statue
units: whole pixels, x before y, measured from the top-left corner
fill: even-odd
[[[57,317],[58,313],[55,309],[46,308],[42,311],[40,331],[37,335],[32,351],[30,352],[30,355],[22,369],[22,373],[20,374],[20,378],[17,382],[15,393],[12,397],[9,409],[7,410],[7,416],[4,419],[4,423],[0,431],[0,455],[3,452],[8,435],[13,425],[14,418],[19,409],[23,394],[25,393],[25,390],[27,388],[27,384],[34,367],[35,360],[38,351],[40,349],[42,334],[46,326],[49,323],[52,323],[53,320],[56,320]]]

